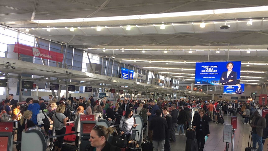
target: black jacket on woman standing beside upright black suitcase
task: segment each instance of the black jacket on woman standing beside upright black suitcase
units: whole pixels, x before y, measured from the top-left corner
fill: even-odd
[[[200,116],[196,116],[196,118],[193,119],[193,126],[196,126],[196,135],[198,134],[202,134],[203,136],[206,136],[209,133],[209,125],[208,125],[208,119],[206,118],[206,116],[203,116],[203,119],[201,121],[202,124],[202,131],[200,131]]]

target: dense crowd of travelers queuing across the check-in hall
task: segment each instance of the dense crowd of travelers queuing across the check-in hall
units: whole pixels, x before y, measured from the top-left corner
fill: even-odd
[[[10,94],[9,98],[14,100],[13,94]],[[198,114],[194,116],[192,121],[192,126],[196,129],[199,151],[202,151],[204,148],[204,137],[210,135],[208,122],[210,120],[216,122],[217,118],[215,115],[220,114],[220,111],[222,111],[221,114],[225,116],[232,115],[234,114],[233,111],[237,111],[238,115],[245,117],[245,124],[250,123],[252,127],[253,147],[256,147],[256,143],[258,143],[259,149],[262,149],[262,145],[268,136],[268,115],[265,118],[260,116],[261,109],[268,108],[266,105],[257,103],[247,104],[244,102],[216,100],[167,101],[161,99],[149,99],[149,101],[143,102],[141,100],[119,98],[117,102],[113,104],[109,102],[109,100],[106,101],[106,98],[95,101],[92,96],[86,100],[85,97],[80,96],[76,99],[76,97],[69,95],[68,100],[62,96],[60,101],[58,101],[57,98],[50,95],[48,105],[46,106],[42,98],[34,100],[29,97],[25,100],[25,104],[15,102],[12,105],[10,99],[5,100],[4,105],[0,108],[7,111],[8,114],[11,114],[12,120],[18,120],[18,141],[21,140],[20,134],[25,128],[26,123],[26,128],[39,126],[44,129],[44,118],[48,118],[50,123],[54,125],[57,135],[65,134],[67,121],[74,121],[75,132],[79,132],[80,116],[82,114],[94,114],[99,118],[107,120],[110,125],[119,125],[120,134],[126,134],[127,140],[130,140],[132,128],[136,127],[133,115],[138,114],[143,119],[145,130],[148,130],[148,141],[154,144],[154,150],[159,148],[160,150],[170,151],[170,143],[176,142],[175,135],[185,135],[185,130],[191,128],[189,125],[192,119],[188,106],[192,105],[200,107]],[[75,103],[75,106],[73,106],[73,103]],[[169,111],[170,109],[171,111]],[[124,116],[122,116],[123,111],[125,111]],[[45,116],[43,113],[46,113]],[[204,116],[205,114],[209,116]],[[252,120],[252,122],[250,122],[250,120]],[[103,129],[105,134],[100,134],[100,129]],[[52,126],[50,126],[49,130],[46,130],[46,133],[53,135]],[[94,135],[98,137],[98,140],[107,142],[106,135],[110,134],[110,130],[101,126],[95,130],[95,133]],[[96,143],[94,139],[89,141],[91,142],[90,149],[112,146],[108,143]],[[103,141],[101,142],[103,143]],[[62,142],[63,137],[58,137],[58,144],[55,144],[55,150],[61,150]],[[79,147],[79,134],[76,134],[75,146],[77,148]],[[17,149],[20,150],[20,145],[17,145]]]

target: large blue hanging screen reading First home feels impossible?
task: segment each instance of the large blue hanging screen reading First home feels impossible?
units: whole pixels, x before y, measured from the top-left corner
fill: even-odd
[[[196,63],[195,85],[236,85],[241,61]]]

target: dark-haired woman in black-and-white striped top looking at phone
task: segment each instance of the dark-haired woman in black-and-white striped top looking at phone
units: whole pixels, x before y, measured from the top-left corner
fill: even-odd
[[[134,122],[133,110],[128,108],[125,115],[122,116],[119,124],[121,135],[125,134],[127,136],[127,142],[131,140],[132,127],[136,127],[137,124]]]

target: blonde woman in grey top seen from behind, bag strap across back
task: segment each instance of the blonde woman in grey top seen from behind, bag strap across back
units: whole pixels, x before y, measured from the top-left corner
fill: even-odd
[[[56,113],[53,114],[53,125],[55,127],[56,135],[65,134],[66,132],[66,124],[68,117],[66,117],[63,112],[65,111],[65,106],[62,104],[59,104]],[[63,143],[64,136],[57,137],[58,143],[55,144],[55,151],[60,151],[62,149],[62,143]]]

